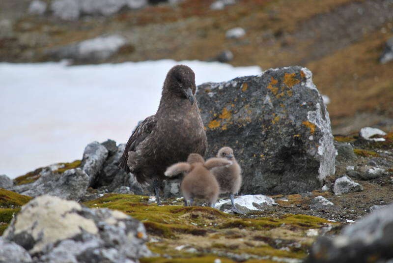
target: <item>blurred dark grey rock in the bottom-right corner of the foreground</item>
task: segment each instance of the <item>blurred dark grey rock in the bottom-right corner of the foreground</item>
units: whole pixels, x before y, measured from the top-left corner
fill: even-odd
[[[320,237],[307,263],[388,262],[393,258],[393,205],[378,209],[335,238]]]

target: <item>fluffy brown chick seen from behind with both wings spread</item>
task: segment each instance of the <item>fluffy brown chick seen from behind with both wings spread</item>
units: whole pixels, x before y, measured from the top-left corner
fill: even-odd
[[[188,205],[188,201],[193,205],[196,197],[206,200],[209,206],[214,207],[220,187],[217,179],[209,170],[231,164],[232,162],[225,158],[210,158],[205,162],[202,156],[192,153],[188,156],[186,163],[181,162],[168,167],[165,175],[170,177],[180,173],[185,174],[180,185],[185,206]]]

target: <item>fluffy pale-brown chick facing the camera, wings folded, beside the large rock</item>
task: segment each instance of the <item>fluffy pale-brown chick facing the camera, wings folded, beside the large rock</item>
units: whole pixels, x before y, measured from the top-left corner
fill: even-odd
[[[232,210],[237,213],[240,211],[236,208],[234,195],[239,192],[242,185],[242,170],[237,163],[233,150],[230,147],[223,147],[217,153],[218,158],[226,158],[232,162],[231,165],[225,167],[216,167],[212,169],[213,175],[216,177],[220,185],[220,194],[229,193],[232,203]]]

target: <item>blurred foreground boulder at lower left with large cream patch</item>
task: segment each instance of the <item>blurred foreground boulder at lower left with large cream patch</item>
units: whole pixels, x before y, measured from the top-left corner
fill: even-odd
[[[151,256],[138,220],[116,210],[90,209],[46,195],[24,205],[3,238],[45,263],[134,263]]]

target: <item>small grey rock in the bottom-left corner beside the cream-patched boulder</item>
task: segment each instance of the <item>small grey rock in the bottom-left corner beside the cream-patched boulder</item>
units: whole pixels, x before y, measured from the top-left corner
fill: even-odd
[[[32,260],[26,249],[0,236],[0,262],[29,263]]]

